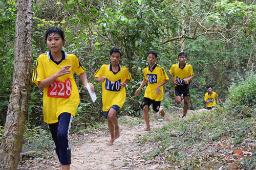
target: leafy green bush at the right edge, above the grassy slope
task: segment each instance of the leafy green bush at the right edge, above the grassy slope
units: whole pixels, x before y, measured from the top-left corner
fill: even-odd
[[[238,83],[231,83],[229,87],[229,99],[233,106],[250,106],[256,104],[256,74],[253,67],[247,72],[246,77],[237,75]]]

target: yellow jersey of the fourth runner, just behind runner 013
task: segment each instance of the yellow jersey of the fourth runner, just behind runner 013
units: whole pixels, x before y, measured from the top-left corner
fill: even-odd
[[[174,73],[174,80],[179,84],[186,84],[184,79],[187,79],[189,76],[193,76],[193,68],[190,64],[185,63],[183,68],[180,68],[180,64],[173,64],[169,70],[170,75]],[[188,84],[188,83],[187,83]]]

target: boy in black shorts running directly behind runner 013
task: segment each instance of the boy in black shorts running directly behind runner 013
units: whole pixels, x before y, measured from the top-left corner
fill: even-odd
[[[168,74],[170,80],[174,83],[174,98],[176,103],[180,104],[182,101],[181,95],[183,94],[184,96],[183,118],[186,117],[188,110],[188,100],[190,95],[188,82],[194,78],[194,73],[192,66],[185,62],[187,59],[187,54],[185,52],[181,52],[178,55],[178,59],[179,62],[172,65]],[[172,74],[174,74],[174,78]]]

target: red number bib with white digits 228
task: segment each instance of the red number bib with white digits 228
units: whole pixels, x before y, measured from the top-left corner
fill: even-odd
[[[67,79],[65,82],[54,80],[52,84],[48,86],[47,96],[51,98],[66,98],[68,99],[71,94],[71,81]]]

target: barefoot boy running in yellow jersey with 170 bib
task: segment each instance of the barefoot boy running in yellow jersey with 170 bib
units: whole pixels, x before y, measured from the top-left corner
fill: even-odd
[[[122,51],[116,47],[112,48],[110,51],[111,63],[103,64],[94,75],[94,81],[102,83],[102,110],[104,115],[108,116],[108,127],[111,135],[107,145],[112,145],[120,136],[116,113],[125,102],[125,86],[132,81],[129,70],[119,65],[121,59]]]

